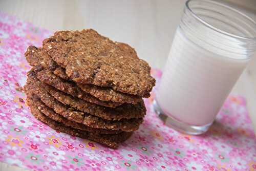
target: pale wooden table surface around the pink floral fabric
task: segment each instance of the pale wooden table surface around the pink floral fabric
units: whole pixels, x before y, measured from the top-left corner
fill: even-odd
[[[230,0],[256,20],[256,1]],[[164,1],[0,1],[0,11],[52,31],[93,28],[135,47],[140,58],[162,68],[168,56],[185,0]],[[232,94],[246,97],[256,130],[256,56],[243,72]],[[24,170],[0,163],[0,170]]]

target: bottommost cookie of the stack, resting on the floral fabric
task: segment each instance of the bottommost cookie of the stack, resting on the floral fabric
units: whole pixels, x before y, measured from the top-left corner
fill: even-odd
[[[99,142],[101,144],[108,145],[112,148],[117,148],[118,145],[130,138],[133,134],[133,132],[121,132],[120,134],[113,134],[113,135],[108,135],[108,134],[94,134],[92,132],[88,131],[81,131],[78,129],[73,129],[72,127],[66,126],[60,122],[54,121],[48,117],[46,117],[44,114],[42,114],[38,109],[32,108],[31,109],[32,115],[41,122],[46,123],[52,129],[63,132],[72,136],[77,136],[83,139],[89,139],[93,140],[95,142]]]

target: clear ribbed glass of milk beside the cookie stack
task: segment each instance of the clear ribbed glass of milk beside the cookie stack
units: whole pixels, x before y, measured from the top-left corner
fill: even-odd
[[[219,1],[187,1],[155,111],[180,132],[206,132],[255,50],[256,23],[250,17]]]

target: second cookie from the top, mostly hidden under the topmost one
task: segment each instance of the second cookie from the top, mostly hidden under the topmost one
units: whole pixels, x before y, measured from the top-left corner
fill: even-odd
[[[118,45],[122,47],[122,49],[127,51],[127,53],[136,55],[136,52],[130,46],[129,48],[127,47],[126,44],[123,44],[123,43],[118,43]],[[25,53],[25,57],[31,66],[38,68],[42,65],[44,68],[48,68],[52,70],[53,73],[58,77],[66,80],[69,79],[65,70],[59,67],[56,64],[56,62],[54,62],[46,53],[42,51],[41,48],[30,46]],[[98,98],[101,101],[113,101],[113,102],[120,102],[120,103],[126,102],[126,103],[136,104],[138,101],[141,100],[142,97],[144,98],[150,97],[149,93],[145,94],[144,96],[136,96],[136,95],[117,92],[111,88],[102,88],[98,86],[93,86],[91,84],[80,83],[80,84],[77,84],[77,86],[79,86],[81,90],[83,90],[84,92],[93,95],[94,97]]]

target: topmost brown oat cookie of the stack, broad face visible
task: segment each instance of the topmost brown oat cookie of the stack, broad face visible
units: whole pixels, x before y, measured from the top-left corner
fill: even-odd
[[[58,31],[43,41],[43,48],[75,82],[111,87],[139,96],[151,92],[155,79],[150,66],[131,48],[103,37],[92,29]]]

